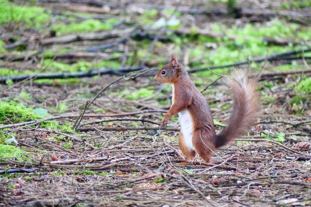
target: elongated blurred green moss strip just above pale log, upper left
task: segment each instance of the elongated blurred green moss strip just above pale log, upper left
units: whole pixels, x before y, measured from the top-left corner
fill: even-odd
[[[119,20],[111,18],[104,22],[99,20],[85,20],[80,23],[70,23],[69,25],[57,24],[53,27],[53,30],[57,31],[58,35],[64,35],[69,33],[87,33],[93,31],[111,30],[113,24],[117,23]]]

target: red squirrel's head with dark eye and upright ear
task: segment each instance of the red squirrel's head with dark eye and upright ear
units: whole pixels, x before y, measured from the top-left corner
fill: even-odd
[[[180,76],[180,71],[182,65],[180,65],[176,59],[176,54],[172,54],[171,63],[166,64],[163,68],[158,72],[156,76],[154,76],[154,80],[158,83],[169,83],[174,84],[178,81]]]

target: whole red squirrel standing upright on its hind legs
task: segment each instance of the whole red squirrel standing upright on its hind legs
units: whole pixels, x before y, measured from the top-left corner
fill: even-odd
[[[190,160],[198,153],[207,163],[211,163],[211,156],[217,148],[243,135],[256,121],[256,82],[248,79],[243,70],[233,70],[231,77],[227,77],[227,84],[233,92],[233,112],[228,125],[217,135],[207,101],[175,54],[171,63],[163,66],[154,80],[172,86],[172,106],[162,119],[161,126],[166,126],[168,119],[178,113],[181,124],[179,145]]]

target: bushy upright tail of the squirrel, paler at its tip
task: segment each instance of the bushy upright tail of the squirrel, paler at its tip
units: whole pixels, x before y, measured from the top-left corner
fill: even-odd
[[[233,92],[233,112],[227,127],[216,135],[217,148],[243,135],[256,122],[259,110],[256,81],[248,79],[244,70],[233,70],[227,84]]]

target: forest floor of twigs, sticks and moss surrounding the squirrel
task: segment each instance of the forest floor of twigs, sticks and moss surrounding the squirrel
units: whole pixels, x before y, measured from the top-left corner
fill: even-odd
[[[0,206],[311,205],[311,3],[194,2],[0,0]],[[177,115],[159,129],[172,92],[142,70],[172,51],[217,132],[218,74],[259,80],[257,124],[211,164]]]

